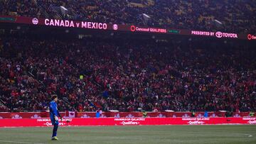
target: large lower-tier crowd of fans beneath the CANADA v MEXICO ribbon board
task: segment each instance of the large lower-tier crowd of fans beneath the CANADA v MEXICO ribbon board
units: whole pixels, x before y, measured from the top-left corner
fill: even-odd
[[[0,41],[6,111],[46,110],[50,94],[58,94],[60,110],[256,110],[256,50],[242,45]]]

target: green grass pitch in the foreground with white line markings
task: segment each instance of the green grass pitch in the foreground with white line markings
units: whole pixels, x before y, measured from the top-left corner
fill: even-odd
[[[60,127],[58,141],[52,128],[0,128],[0,143],[256,143],[254,126],[105,126]]]

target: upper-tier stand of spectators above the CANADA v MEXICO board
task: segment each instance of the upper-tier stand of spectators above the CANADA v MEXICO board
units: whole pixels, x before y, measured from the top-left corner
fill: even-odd
[[[255,11],[255,0],[0,1],[2,15],[233,33],[256,33]]]

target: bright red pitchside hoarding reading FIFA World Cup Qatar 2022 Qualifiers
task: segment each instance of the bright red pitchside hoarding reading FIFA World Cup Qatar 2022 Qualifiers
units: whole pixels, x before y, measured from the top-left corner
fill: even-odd
[[[256,118],[64,118],[60,126],[256,124]],[[1,119],[0,127],[52,126],[49,118]]]

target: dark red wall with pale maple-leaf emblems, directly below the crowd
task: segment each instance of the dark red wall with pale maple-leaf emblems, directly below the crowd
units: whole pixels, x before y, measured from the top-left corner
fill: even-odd
[[[95,112],[75,112],[75,111],[65,111],[60,112],[63,117],[69,118],[95,118]],[[147,117],[158,117],[158,118],[176,118],[176,117],[190,117],[191,112],[167,112],[167,111],[159,111],[159,112],[147,112]],[[203,117],[204,112],[196,112],[196,117]],[[233,117],[244,117],[249,116],[249,112],[240,112],[240,113],[233,113]],[[0,113],[0,119],[2,118],[48,118],[48,112],[2,112]],[[102,118],[141,118],[142,112],[102,112]],[[225,117],[224,111],[217,111],[217,112],[208,112],[208,117]]]

